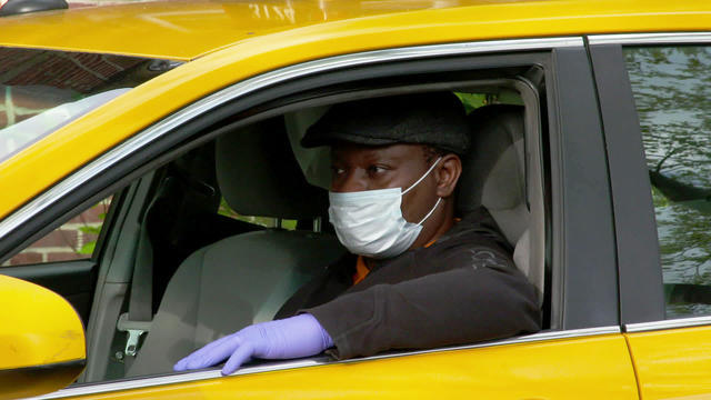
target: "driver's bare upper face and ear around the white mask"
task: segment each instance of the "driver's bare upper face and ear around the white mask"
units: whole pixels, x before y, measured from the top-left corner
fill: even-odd
[[[331,191],[402,188],[412,186],[434,160],[428,162],[421,144],[362,146],[338,143],[331,148]],[[428,174],[402,197],[402,216],[419,222],[438,200],[437,179]]]

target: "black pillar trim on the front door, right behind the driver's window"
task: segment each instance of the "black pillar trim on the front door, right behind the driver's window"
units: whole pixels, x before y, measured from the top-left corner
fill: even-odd
[[[584,47],[553,49],[549,102],[553,290],[562,329],[619,324],[610,184],[594,81]],[[557,266],[563,266],[557,270]],[[557,282],[561,280],[562,282]]]

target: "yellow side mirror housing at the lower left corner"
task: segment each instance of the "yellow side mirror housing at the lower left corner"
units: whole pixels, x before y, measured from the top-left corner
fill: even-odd
[[[74,309],[40,286],[0,274],[0,399],[49,393],[77,379],[87,358]]]

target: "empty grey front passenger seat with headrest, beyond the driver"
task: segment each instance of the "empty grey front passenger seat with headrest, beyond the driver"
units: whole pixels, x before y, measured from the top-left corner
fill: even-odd
[[[281,118],[220,137],[216,167],[226,201],[242,216],[313,220],[326,212],[327,192],[307,183]],[[271,320],[343,252],[331,234],[282,229],[237,234],[196,251],[168,283],[127,376],[172,371],[194,349]]]

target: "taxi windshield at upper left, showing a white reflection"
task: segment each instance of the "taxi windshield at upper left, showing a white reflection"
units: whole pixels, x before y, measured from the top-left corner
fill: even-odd
[[[0,48],[0,162],[178,64],[114,54]]]

